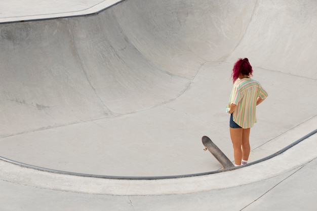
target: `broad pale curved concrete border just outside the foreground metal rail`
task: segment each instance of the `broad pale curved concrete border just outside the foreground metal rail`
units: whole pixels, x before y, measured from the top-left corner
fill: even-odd
[[[117,180],[54,174],[0,161],[0,179],[51,190],[105,195],[169,195],[225,189],[282,175],[317,157],[317,135],[263,162],[218,174],[162,180]]]

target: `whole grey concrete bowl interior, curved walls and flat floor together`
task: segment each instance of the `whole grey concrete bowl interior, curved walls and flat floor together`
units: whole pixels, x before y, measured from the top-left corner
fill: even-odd
[[[3,23],[0,155],[93,175],[217,170],[200,139],[233,160],[224,108],[232,64],[248,57],[269,93],[251,135],[253,159],[262,158],[259,147],[316,115],[316,6],[127,0]]]

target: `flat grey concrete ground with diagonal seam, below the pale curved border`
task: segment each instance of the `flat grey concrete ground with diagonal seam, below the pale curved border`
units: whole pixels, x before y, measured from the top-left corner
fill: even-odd
[[[111,196],[54,191],[0,181],[3,210],[308,210],[317,205],[317,160],[283,175],[200,193]],[[304,179],[303,179],[304,178]],[[32,194],[30,194],[30,192]]]

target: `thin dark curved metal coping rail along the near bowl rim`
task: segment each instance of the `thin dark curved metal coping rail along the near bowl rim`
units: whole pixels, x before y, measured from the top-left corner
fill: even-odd
[[[317,129],[310,132],[309,134],[303,136],[302,138],[298,139],[297,141],[293,142],[292,144],[288,145],[287,147],[267,156],[264,157],[262,159],[250,162],[244,166],[249,166],[249,165],[253,165],[259,162],[262,162],[264,160],[268,160],[272,157],[275,157],[279,154],[282,154],[283,152],[285,152],[286,150],[292,148],[293,146],[295,146],[296,144],[300,143],[301,141],[309,138],[310,136],[314,135],[315,133],[317,133]],[[188,178],[188,177],[197,177],[197,176],[205,176],[205,175],[212,175],[212,174],[217,174],[220,172],[227,172],[227,171],[232,171],[235,170],[237,168],[241,168],[244,166],[240,166],[240,167],[230,167],[230,168],[225,168],[224,170],[217,170],[217,171],[212,171],[212,172],[205,172],[205,173],[197,173],[197,174],[188,174],[188,175],[175,175],[175,176],[157,176],[157,177],[126,177],[126,176],[106,176],[106,175],[92,175],[92,174],[83,174],[83,173],[74,173],[74,172],[65,172],[65,171],[59,171],[59,170],[53,170],[50,168],[45,168],[45,167],[39,167],[39,166],[35,166],[35,165],[30,165],[30,164],[26,164],[23,162],[18,162],[15,160],[11,160],[5,157],[1,157],[0,156],[0,160],[3,160],[5,162],[9,162],[15,165],[19,165],[22,167],[26,167],[26,168],[32,168],[33,170],[38,170],[38,171],[43,171],[43,172],[48,172],[48,173],[54,173],[54,174],[63,174],[63,175],[71,175],[71,176],[78,176],[78,177],[91,177],[91,178],[102,178],[102,179],[114,179],[114,180],[164,180],[164,179],[178,179],[178,178]]]

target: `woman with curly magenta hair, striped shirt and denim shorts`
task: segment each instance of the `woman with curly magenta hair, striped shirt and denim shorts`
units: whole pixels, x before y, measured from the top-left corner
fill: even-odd
[[[251,79],[252,66],[247,58],[239,59],[232,69],[233,88],[227,112],[230,116],[230,137],[234,165],[247,164],[250,154],[250,129],[256,122],[256,106],[268,96],[260,83]]]

